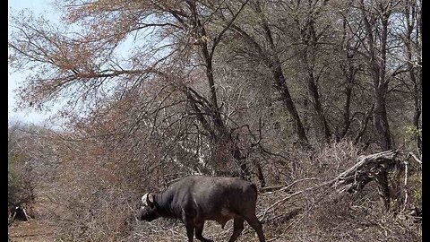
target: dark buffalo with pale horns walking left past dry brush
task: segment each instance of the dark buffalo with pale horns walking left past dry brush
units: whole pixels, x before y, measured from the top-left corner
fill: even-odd
[[[202,231],[205,220],[216,220],[224,229],[228,220],[234,220],[233,235],[228,240],[236,241],[244,229],[244,221],[257,232],[260,242],[265,238],[262,224],[255,216],[257,187],[236,177],[185,177],[168,186],[160,194],[144,194],[143,206],[138,220],[155,220],[159,217],[182,220],[188,241],[195,237],[203,242]]]

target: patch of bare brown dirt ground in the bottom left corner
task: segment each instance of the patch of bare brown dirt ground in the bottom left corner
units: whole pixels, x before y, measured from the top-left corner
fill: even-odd
[[[30,220],[14,221],[8,228],[8,238],[14,242],[52,242],[56,237],[46,220]]]

